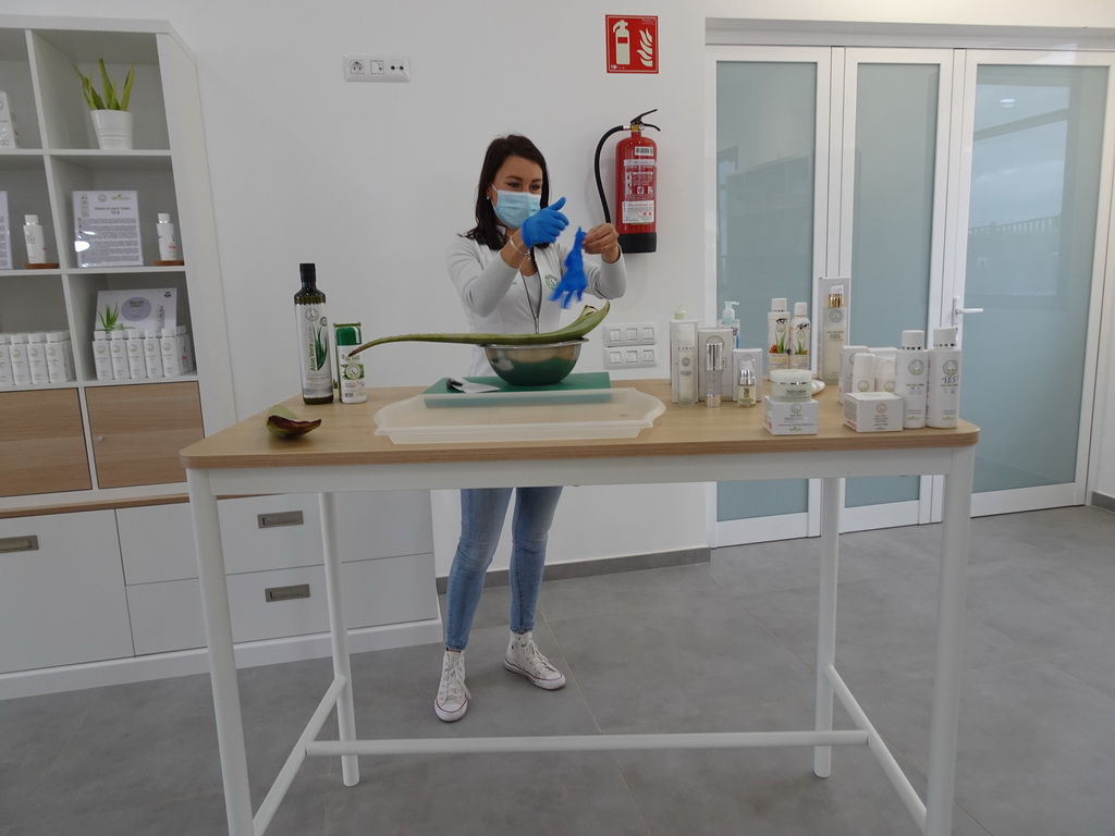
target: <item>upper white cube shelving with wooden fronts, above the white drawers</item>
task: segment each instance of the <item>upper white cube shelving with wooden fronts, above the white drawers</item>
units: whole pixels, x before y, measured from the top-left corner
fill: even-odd
[[[136,80],[129,110],[133,150],[100,150],[71,65],[88,72],[104,58],[123,79],[132,62]],[[7,193],[11,270],[0,271],[0,332],[68,331],[75,377],[67,382],[0,388],[0,418],[20,410],[12,396],[69,390],[79,435],[43,457],[43,472],[85,475],[85,480],[16,479],[12,456],[0,458],[0,511],[184,492],[177,450],[203,431],[234,420],[232,378],[223,344],[225,317],[193,57],[159,21],[98,21],[0,16],[0,89],[8,94],[17,148],[0,148],[0,191]],[[99,85],[98,85],[99,87]],[[72,194],[87,189],[137,193],[142,266],[80,268],[74,241]],[[176,223],[184,265],[161,266],[155,223],[168,213]],[[25,269],[23,216],[39,216],[48,262]],[[162,380],[98,381],[91,342],[97,294],[103,290],[171,288],[177,321],[193,334],[196,373]],[[220,338],[220,339],[219,339]],[[142,386],[136,386],[142,383]],[[183,383],[187,388],[182,389]],[[174,398],[161,396],[177,386]],[[173,407],[191,399],[197,406]],[[9,402],[10,401],[10,402]],[[144,414],[148,418],[140,418]],[[138,426],[117,426],[114,416],[136,416]],[[105,416],[108,416],[106,426]],[[161,435],[152,428],[162,428]],[[46,439],[49,441],[49,439]],[[142,447],[132,460],[120,451]],[[54,458],[54,460],[51,460]],[[22,494],[10,489],[25,486]],[[148,486],[161,486],[148,487]]]

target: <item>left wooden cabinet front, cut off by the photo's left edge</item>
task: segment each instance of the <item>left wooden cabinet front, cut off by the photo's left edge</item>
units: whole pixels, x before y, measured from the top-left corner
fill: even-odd
[[[0,496],[93,487],[76,389],[3,392],[0,427]]]

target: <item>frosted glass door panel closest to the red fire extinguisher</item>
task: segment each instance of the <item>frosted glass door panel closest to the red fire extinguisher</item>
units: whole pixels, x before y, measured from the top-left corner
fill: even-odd
[[[817,259],[823,257],[815,242],[820,234],[823,250],[823,223],[818,230],[816,218],[824,203],[817,183],[827,176],[830,50],[725,48],[710,54],[716,299],[709,300],[702,321],[715,322],[724,301],[736,301],[740,347],[765,347],[770,300],[809,300]],[[721,533],[718,541],[807,533],[804,479],[720,483],[716,505],[718,531],[721,523],[746,529]]]

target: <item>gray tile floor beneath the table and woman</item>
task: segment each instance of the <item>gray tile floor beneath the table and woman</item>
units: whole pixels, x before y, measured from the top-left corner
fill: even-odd
[[[938,526],[842,538],[837,667],[924,791]],[[361,737],[804,729],[820,541],[708,564],[546,582],[556,692],[503,670],[505,589],[485,594],[459,723],[432,708],[440,649],[353,657]],[[1115,833],[1115,514],[972,521],[954,833]],[[254,804],[330,662],[241,672]],[[838,725],[849,727],[838,712]],[[334,736],[334,731],[330,736]],[[0,702],[0,836],[212,836],[224,825],[207,677]],[[918,833],[874,759],[808,749],[310,759],[269,834]]]

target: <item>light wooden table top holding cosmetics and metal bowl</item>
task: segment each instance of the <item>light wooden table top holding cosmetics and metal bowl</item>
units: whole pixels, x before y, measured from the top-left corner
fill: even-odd
[[[740,409],[725,400],[717,409],[704,404],[679,407],[670,402],[670,382],[613,380],[612,388],[630,387],[666,405],[655,425],[634,438],[545,441],[395,444],[376,435],[375,414],[382,407],[424,391],[423,387],[369,388],[365,404],[333,401],[308,406],[301,396],[284,401],[300,419],[320,418],[321,426],[293,439],[266,428],[268,410],[235,424],[181,453],[187,468],[310,467],[448,461],[508,461],[555,458],[692,456],[820,450],[885,450],[948,448],[975,445],[979,428],[960,421],[954,429],[906,429],[899,432],[856,432],[843,424],[843,407],[830,387],[820,402],[817,435],[773,436],[763,426],[763,406]]]

